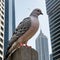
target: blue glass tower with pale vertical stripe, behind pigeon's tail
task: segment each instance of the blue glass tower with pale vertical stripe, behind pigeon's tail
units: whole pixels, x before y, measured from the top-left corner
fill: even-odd
[[[8,46],[8,41],[15,30],[15,0],[5,0],[5,35],[4,35],[4,54]]]

